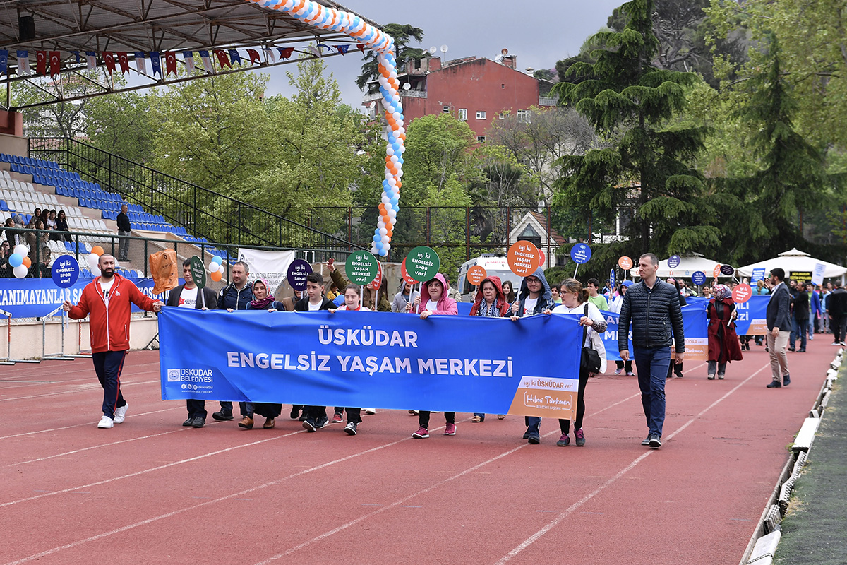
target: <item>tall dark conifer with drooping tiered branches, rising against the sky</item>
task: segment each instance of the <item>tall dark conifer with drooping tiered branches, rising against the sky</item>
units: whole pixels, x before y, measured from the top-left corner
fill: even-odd
[[[575,107],[612,147],[560,159],[554,205],[606,220],[631,208],[624,228],[630,252],[708,252],[718,244],[715,209],[691,167],[706,130],[667,127],[684,108],[684,86],[698,79],[654,64],[659,42],[652,0],[633,0],[621,10],[628,18],[623,30],[590,40],[603,46],[591,53],[595,63],[567,70],[590,78],[555,86],[559,102]]]

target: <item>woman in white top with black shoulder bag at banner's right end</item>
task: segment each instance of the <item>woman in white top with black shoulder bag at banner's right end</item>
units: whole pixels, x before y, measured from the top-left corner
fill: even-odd
[[[583,328],[582,335],[582,363],[579,367],[579,390],[577,392],[577,416],[573,421],[573,435],[576,445],[585,445],[585,434],[583,432],[583,418],[585,415],[585,385],[588,384],[590,374],[606,372],[606,347],[603,346],[601,334],[606,331],[606,319],[600,310],[591,302],[588,302],[588,291],[576,279],[565,279],[559,291],[562,296],[562,304],[545,313],[556,314],[579,314],[579,325]],[[599,363],[598,363],[599,362]],[[556,441],[556,446],[564,447],[570,444],[571,421],[559,419],[559,427],[562,429],[562,437]],[[529,443],[538,443],[529,438]]]

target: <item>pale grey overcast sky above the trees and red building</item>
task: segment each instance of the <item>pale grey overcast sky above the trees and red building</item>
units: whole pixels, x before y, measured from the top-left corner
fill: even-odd
[[[441,47],[442,60],[462,57],[495,58],[502,48],[518,57],[518,69],[551,69],[556,61],[579,53],[585,38],[594,34],[623,0],[341,0],[358,14],[381,25],[411,24],[424,30],[424,42],[412,47]],[[331,45],[332,42],[329,42]],[[440,51],[436,54],[440,55]],[[345,102],[360,108],[362,92],[356,86],[362,54],[326,59]],[[286,70],[293,65],[265,69],[271,79],[268,94],[291,94]]]

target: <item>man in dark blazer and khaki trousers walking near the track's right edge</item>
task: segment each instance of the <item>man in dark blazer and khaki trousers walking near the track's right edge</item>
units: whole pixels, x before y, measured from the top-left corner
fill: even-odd
[[[785,271],[783,269],[771,269],[771,279],[767,281],[767,288],[771,289],[771,298],[767,301],[767,354],[771,357],[771,384],[769,389],[778,389],[788,386],[791,382],[789,376],[789,358],[785,354],[785,346],[789,344],[791,330],[791,295],[789,289],[783,282]]]

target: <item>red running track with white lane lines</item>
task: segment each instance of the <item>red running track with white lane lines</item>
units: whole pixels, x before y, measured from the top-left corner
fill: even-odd
[[[825,338],[789,354],[786,389],[765,388],[761,347],[723,381],[686,362],[658,451],[623,375],[591,379],[586,446],[556,447],[555,421],[529,446],[516,416],[460,414],[448,437],[434,414],[429,440],[400,411],[355,437],[307,434],[285,407],[276,429],[182,428],[155,352],[130,354],[127,419],[97,429],[91,361],[0,368],[0,564],[737,563],[835,355]]]

